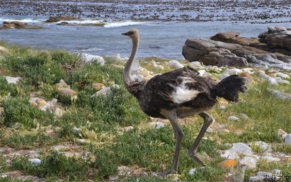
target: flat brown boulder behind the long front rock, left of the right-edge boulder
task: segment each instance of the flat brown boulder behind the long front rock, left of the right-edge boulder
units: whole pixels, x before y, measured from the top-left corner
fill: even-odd
[[[238,31],[226,31],[226,32],[219,32],[216,35],[210,37],[210,39],[214,41],[221,41],[225,43],[246,45],[246,46],[252,46],[252,47],[255,47],[258,44],[260,44],[258,39],[240,37],[239,35],[240,35],[240,32]]]

